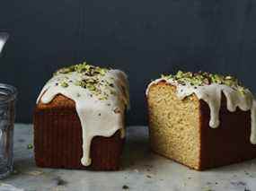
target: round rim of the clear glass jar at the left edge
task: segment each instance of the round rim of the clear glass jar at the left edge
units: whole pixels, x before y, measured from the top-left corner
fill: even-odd
[[[9,85],[6,83],[0,83],[0,94],[4,92],[6,96],[4,96],[3,100],[0,100],[0,104],[10,102],[12,100],[16,100],[18,91],[13,85]]]

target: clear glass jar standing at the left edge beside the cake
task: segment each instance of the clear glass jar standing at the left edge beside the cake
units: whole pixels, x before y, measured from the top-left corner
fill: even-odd
[[[13,171],[13,126],[16,88],[0,83],[0,178]]]

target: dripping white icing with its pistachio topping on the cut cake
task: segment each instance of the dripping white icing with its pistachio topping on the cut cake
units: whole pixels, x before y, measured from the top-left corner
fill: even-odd
[[[162,75],[161,78],[149,83],[146,95],[151,85],[157,82],[168,82],[176,87],[177,96],[181,100],[193,93],[207,102],[210,109],[209,126],[216,128],[219,121],[222,93],[226,98],[226,108],[234,112],[236,108],[243,111],[251,110],[251,143],[256,144],[256,101],[252,92],[244,88],[240,82],[232,76],[209,74],[199,72],[197,74],[183,73],[179,71],[175,75]]]

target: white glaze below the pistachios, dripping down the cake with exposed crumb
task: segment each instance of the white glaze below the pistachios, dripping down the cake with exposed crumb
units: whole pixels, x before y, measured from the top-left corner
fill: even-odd
[[[234,112],[237,107],[243,111],[251,110],[252,124],[250,141],[252,144],[256,144],[256,101],[253,99],[252,92],[248,89],[245,89],[244,93],[241,93],[240,91],[224,84],[212,83],[210,85],[192,86],[187,83],[185,85],[181,85],[172,79],[160,78],[149,83],[146,89],[146,95],[148,94],[151,85],[161,81],[165,81],[176,86],[177,96],[181,100],[195,93],[199,100],[206,101],[210,109],[209,126],[212,128],[216,128],[220,124],[219,110],[221,107],[222,92],[225,95],[227,101],[226,108],[229,111]]]

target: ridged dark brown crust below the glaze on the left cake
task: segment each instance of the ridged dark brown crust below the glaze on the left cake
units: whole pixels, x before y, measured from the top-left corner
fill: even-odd
[[[123,143],[120,131],[110,137],[95,136],[92,164],[85,167],[81,164],[82,127],[75,102],[59,94],[49,104],[40,102],[34,111],[35,161],[39,167],[117,170]]]

